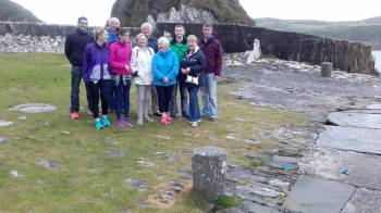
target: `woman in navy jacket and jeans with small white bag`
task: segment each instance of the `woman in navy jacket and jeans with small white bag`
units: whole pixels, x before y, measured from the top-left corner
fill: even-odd
[[[207,62],[201,49],[197,46],[197,37],[194,35],[187,38],[188,51],[181,60],[181,82],[189,92],[189,115],[188,122],[193,127],[200,122],[200,110],[198,105],[197,92],[200,86],[198,80],[200,74],[205,72]]]

